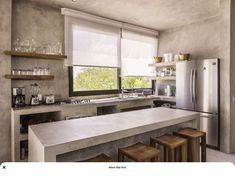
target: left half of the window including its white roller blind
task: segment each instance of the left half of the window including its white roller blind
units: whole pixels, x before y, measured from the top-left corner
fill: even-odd
[[[118,93],[120,28],[74,18],[67,23],[70,96]]]

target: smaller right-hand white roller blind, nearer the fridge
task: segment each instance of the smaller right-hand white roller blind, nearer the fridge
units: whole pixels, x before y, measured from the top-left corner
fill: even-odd
[[[148,65],[157,52],[156,36],[123,30],[121,40],[122,76],[154,76],[154,69]]]

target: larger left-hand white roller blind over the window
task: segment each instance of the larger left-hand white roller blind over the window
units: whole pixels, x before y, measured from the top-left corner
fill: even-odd
[[[120,28],[66,17],[68,65],[120,67]]]

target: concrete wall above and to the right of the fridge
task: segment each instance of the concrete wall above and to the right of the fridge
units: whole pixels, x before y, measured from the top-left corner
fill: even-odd
[[[220,15],[160,33],[159,54],[192,54],[192,59],[221,59],[221,150],[230,152],[230,0],[220,1]]]

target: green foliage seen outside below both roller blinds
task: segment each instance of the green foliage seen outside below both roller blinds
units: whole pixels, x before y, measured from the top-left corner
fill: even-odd
[[[116,68],[73,67],[73,91],[115,90],[118,89]],[[123,77],[125,89],[151,88],[151,80],[145,77]]]

